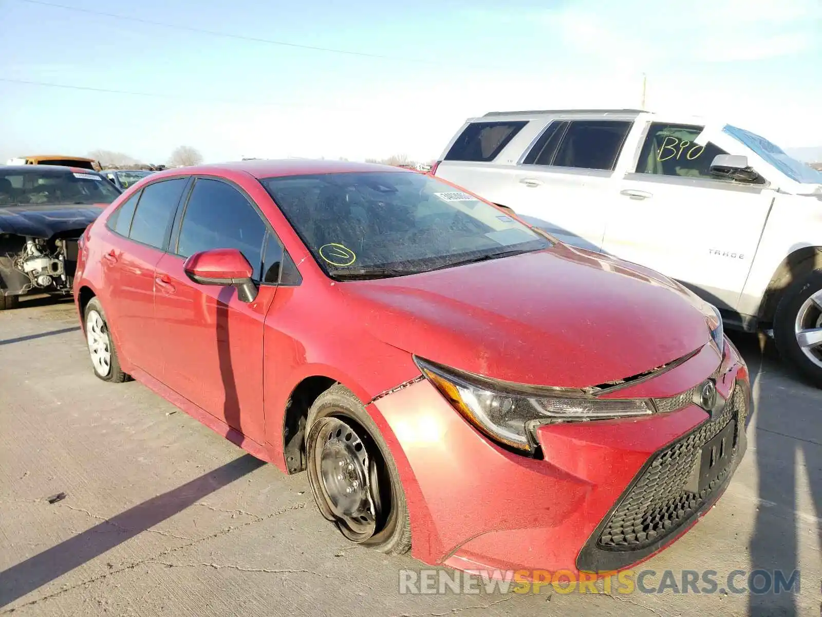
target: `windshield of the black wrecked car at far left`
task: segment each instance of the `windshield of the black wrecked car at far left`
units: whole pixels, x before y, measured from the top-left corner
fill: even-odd
[[[31,167],[0,168],[0,206],[111,203],[120,194],[112,183],[93,171],[54,169],[48,165]]]

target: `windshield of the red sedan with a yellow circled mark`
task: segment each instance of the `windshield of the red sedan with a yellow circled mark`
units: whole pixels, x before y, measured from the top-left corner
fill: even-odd
[[[505,213],[431,176],[365,172],[261,180],[326,272],[401,276],[552,246]]]

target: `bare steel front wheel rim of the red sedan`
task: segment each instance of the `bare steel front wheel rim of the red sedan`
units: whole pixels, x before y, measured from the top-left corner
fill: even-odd
[[[323,516],[349,540],[364,542],[376,532],[381,503],[376,465],[358,431],[338,417],[317,420],[308,465]]]

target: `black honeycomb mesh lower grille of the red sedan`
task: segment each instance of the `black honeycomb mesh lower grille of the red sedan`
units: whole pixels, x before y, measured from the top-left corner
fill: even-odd
[[[644,468],[628,494],[603,526],[597,544],[608,550],[640,550],[676,531],[723,485],[738,456],[738,435],[745,430],[746,395],[737,384],[716,420],[706,420],[672,443]],[[727,466],[699,493],[686,489],[702,447],[734,417],[737,433]]]

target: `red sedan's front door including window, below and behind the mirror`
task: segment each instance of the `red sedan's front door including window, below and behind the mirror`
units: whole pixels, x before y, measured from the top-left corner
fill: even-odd
[[[230,428],[264,443],[263,324],[277,281],[270,280],[263,262],[266,245],[276,241],[267,241],[272,232],[252,199],[222,179],[197,178],[181,210],[179,228],[156,271],[161,380]],[[233,287],[200,285],[186,276],[186,258],[211,248],[242,252],[260,285],[256,299],[242,302]]]

